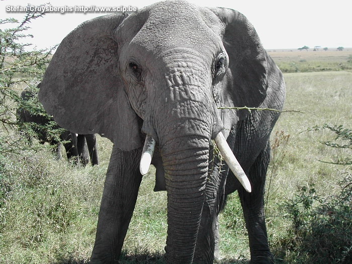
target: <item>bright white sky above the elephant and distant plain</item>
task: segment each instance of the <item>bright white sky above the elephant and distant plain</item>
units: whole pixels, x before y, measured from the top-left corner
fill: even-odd
[[[350,0],[323,2],[312,0],[241,0],[208,1],[189,0],[203,7],[225,7],[244,14],[256,29],[264,48],[297,49],[303,46],[313,48],[352,47],[352,20],[350,19]],[[95,7],[134,7],[142,8],[158,1],[106,1],[106,0],[0,0],[0,18],[22,20],[25,13],[15,11],[26,7],[50,3],[52,7],[83,10]],[[328,3],[328,4],[326,4]],[[9,10],[12,9],[12,12]],[[35,20],[29,33],[34,38],[27,42],[37,48],[49,48],[61,40],[80,23],[105,15],[97,12],[53,12]]]

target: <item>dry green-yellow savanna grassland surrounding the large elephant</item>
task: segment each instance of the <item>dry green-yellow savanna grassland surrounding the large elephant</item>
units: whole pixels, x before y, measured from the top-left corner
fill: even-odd
[[[340,186],[351,184],[350,179],[339,184],[346,171],[351,173],[351,165],[321,161],[348,156],[350,148],[322,144],[335,138],[328,129],[307,130],[323,124],[352,128],[352,50],[270,54],[288,72],[284,74],[285,110],[302,112],[283,113],[272,133],[273,161],[265,197],[272,251],[278,263],[348,263],[352,258],[350,196],[342,217],[349,225],[340,234],[346,237],[342,246],[333,248],[341,250],[340,256],[319,255],[319,247],[327,251],[328,245],[312,244],[318,240],[312,221],[319,220],[321,201],[338,197]],[[18,137],[15,129],[1,127],[0,134]],[[111,149],[111,142],[100,138],[101,164],[85,168],[55,160],[51,149],[36,141],[1,157],[0,263],[89,263]],[[140,187],[122,263],[164,262],[166,193],[154,193],[153,183],[152,170]],[[322,213],[322,218],[328,216],[323,229],[338,229],[329,222],[335,214],[330,211]],[[218,262],[247,263],[248,241],[236,193],[229,197],[220,224],[222,258]],[[332,235],[324,239],[334,245]]]

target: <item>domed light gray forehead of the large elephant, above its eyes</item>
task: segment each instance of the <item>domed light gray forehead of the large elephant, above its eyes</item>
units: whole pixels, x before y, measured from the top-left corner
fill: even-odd
[[[163,2],[151,6],[149,17],[133,42],[149,51],[189,48],[201,53],[217,49],[220,42],[218,20],[187,2]],[[208,15],[208,16],[207,16]],[[211,28],[212,27],[212,28]]]

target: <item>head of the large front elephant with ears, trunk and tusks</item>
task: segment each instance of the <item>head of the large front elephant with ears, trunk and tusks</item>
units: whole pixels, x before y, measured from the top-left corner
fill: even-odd
[[[242,14],[170,1],[80,25],[53,56],[40,100],[75,133],[100,133],[123,150],[142,147],[144,137],[156,142],[168,192],[168,258],[186,260],[196,243],[211,139],[234,159],[223,135],[246,116],[218,107],[259,106],[266,77],[265,50]],[[248,179],[241,181],[250,191]]]

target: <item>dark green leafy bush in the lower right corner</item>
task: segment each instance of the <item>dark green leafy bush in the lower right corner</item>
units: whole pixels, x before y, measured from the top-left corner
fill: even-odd
[[[322,144],[352,148],[352,133],[343,126],[323,125],[309,130],[328,129],[336,134],[333,141]],[[325,197],[314,184],[298,188],[298,194],[284,204],[291,228],[280,240],[282,259],[290,263],[351,263],[352,262],[352,172],[351,158],[337,158],[328,163],[345,165],[340,173],[339,192]],[[280,251],[280,250],[279,250]],[[286,255],[285,255],[286,254]]]

